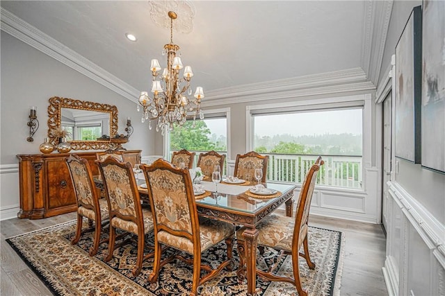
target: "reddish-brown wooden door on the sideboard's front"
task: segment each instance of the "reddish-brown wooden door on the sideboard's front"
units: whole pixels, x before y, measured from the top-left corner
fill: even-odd
[[[47,160],[47,180],[47,209],[76,204],[76,196],[65,159],[60,157]]]

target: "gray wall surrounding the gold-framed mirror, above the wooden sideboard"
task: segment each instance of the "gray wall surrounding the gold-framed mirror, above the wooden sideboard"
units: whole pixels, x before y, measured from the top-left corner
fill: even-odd
[[[116,105],[118,131],[124,133],[128,116],[134,128],[124,148],[154,154],[154,132],[148,130],[147,123],[140,123],[136,103],[1,31],[1,164],[16,164],[17,154],[40,153],[39,145],[47,137],[48,99],[52,96]],[[38,107],[40,128],[29,143],[26,122],[31,105]]]

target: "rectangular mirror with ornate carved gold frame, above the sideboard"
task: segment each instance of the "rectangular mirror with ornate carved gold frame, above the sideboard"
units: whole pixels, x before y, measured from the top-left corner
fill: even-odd
[[[72,150],[108,149],[118,142],[114,139],[118,133],[118,108],[114,105],[54,96],[49,99],[48,116],[48,137],[53,145],[64,134]]]

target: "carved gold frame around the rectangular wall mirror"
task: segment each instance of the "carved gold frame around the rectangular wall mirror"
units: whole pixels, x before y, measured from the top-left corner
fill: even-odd
[[[113,137],[118,133],[118,107],[115,105],[94,103],[89,101],[74,100],[72,98],[60,98],[54,96],[49,98],[48,106],[48,138],[54,146],[58,144],[58,137],[55,132],[60,127],[60,108],[71,108],[105,112],[110,114],[110,140],[103,141],[69,141],[72,150],[102,150],[108,149],[112,145]]]

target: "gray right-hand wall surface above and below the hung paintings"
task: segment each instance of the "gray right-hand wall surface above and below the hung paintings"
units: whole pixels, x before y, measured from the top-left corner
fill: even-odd
[[[421,1],[394,1],[382,70],[387,68],[391,55],[394,54],[412,8],[421,3]],[[403,159],[397,159],[397,162],[396,181],[439,222],[445,224],[445,174],[435,173],[422,168],[420,164],[412,164]]]

